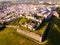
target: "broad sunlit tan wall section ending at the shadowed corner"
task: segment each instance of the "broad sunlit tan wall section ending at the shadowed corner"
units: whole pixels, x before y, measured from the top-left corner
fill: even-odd
[[[24,34],[28,37],[31,37],[31,38],[41,42],[41,37],[38,34],[34,33],[34,32],[24,31],[24,30],[20,30],[20,29],[17,29],[17,32],[22,33],[22,34]]]

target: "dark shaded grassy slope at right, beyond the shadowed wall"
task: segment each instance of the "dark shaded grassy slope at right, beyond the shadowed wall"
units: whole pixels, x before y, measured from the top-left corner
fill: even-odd
[[[51,22],[54,26],[48,33],[47,45],[60,45],[60,19],[55,17]]]

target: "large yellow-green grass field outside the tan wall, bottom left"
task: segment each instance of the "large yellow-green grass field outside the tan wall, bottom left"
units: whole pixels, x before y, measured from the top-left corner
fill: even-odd
[[[0,45],[38,45],[21,35],[18,35],[15,29],[5,28],[0,31]]]

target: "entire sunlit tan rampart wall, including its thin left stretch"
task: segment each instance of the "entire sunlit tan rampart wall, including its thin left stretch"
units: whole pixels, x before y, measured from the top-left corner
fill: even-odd
[[[33,38],[33,39],[41,42],[41,37],[40,37],[40,35],[38,35],[38,34],[36,34],[36,33],[34,33],[34,32],[21,30],[21,29],[19,29],[19,26],[7,25],[6,27],[15,28],[15,29],[17,29],[17,32],[18,32],[18,33],[22,33],[22,34],[24,34],[24,35],[26,35],[26,36],[28,36],[28,37],[31,37],[31,38]]]

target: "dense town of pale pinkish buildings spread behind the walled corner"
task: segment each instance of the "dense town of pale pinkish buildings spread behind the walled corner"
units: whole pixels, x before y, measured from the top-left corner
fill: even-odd
[[[27,4],[12,5],[10,7],[7,7],[4,10],[3,14],[1,13],[2,15],[6,14],[6,16],[4,16],[1,21],[5,22],[16,19],[18,17],[26,17],[27,19],[32,19],[38,22],[40,25],[44,19],[48,20],[49,18],[51,18],[55,9],[56,8],[54,7],[48,6],[38,7],[37,5]],[[27,25],[28,27],[29,26],[32,28],[34,27],[34,24],[31,25],[31,23],[28,23]]]

